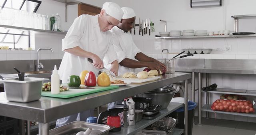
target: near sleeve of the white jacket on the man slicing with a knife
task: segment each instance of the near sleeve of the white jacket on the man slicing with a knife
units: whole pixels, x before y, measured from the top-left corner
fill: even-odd
[[[86,16],[81,15],[76,18],[70,26],[66,36],[62,39],[62,51],[76,46],[80,46],[80,38],[86,30]]]

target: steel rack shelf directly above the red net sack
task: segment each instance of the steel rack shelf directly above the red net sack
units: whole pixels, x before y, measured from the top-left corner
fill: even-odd
[[[202,92],[205,92],[205,91],[202,91]],[[208,93],[222,93],[222,94],[256,96],[256,91],[255,90],[246,90],[246,89],[217,88],[216,91],[207,91],[207,92]]]

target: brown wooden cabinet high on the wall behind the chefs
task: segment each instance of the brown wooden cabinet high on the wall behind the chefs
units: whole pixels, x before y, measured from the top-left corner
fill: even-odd
[[[88,4],[78,4],[78,16],[82,14],[89,14],[92,16],[95,16],[97,14],[100,14],[101,8],[91,6]]]

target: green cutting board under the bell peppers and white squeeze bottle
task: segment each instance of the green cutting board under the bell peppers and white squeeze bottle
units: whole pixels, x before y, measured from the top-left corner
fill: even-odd
[[[103,86],[95,86],[94,89],[69,89],[68,91],[62,91],[59,94],[52,94],[51,91],[42,91],[42,96],[46,97],[59,97],[59,98],[70,98],[70,97],[76,97],[80,95],[87,95],[91,93],[96,93],[100,91],[106,91],[110,89],[116,89],[119,86],[117,85],[110,85],[107,87]]]

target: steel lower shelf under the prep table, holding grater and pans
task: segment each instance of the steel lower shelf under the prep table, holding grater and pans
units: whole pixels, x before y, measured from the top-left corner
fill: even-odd
[[[119,132],[110,132],[109,135],[133,135],[137,133],[138,131],[144,129],[145,127],[148,127],[152,123],[158,121],[162,117],[172,113],[176,109],[182,107],[184,104],[183,103],[170,103],[166,109],[163,109],[160,111],[160,115],[156,119],[142,119],[141,121],[137,122],[134,126],[130,126],[128,128],[122,128],[121,131]],[[180,135],[180,134],[177,134]]]

